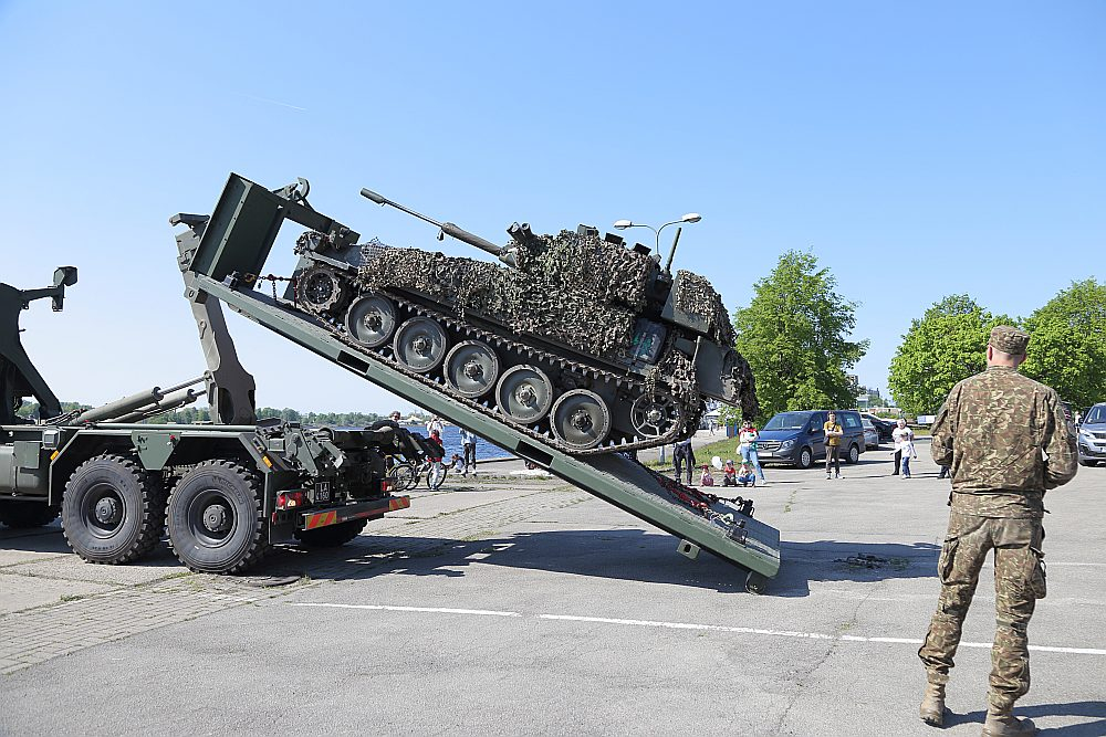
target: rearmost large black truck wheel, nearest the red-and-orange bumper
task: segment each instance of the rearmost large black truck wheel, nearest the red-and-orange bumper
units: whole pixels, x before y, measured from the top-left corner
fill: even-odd
[[[269,549],[255,473],[233,461],[205,461],[169,493],[165,514],[177,559],[200,573],[240,573]]]

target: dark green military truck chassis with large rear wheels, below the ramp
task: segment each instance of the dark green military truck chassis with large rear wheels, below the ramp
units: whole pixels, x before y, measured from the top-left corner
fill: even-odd
[[[65,412],[23,350],[19,315],[44,297],[61,310],[76,281],[77,270],[63,266],[42,289],[0,284],[0,523],[9,527],[46,525],[60,514],[70,546],[96,564],[137,560],[167,531],[188,568],[240,572],[273,545],[341,545],[408,507],[409,497],[390,493],[386,456],[441,454],[388,422],[363,430],[257,422],[252,406],[240,408],[237,423],[142,423],[196,401],[205,393],[198,385],[217,393],[210,371]],[[211,333],[225,328],[221,313],[200,313],[221,370],[233,364],[239,386],[252,387],[226,333]],[[18,413],[28,398],[39,403],[34,421]]]

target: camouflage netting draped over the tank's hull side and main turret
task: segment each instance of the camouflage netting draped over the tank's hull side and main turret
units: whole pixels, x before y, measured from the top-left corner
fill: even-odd
[[[564,238],[566,233],[571,239]],[[587,250],[578,243],[574,248],[573,239],[577,239],[575,233],[567,231],[531,239],[539,248],[528,249],[524,261],[529,273],[472,259],[374,244],[363,252],[358,276],[371,289],[421,292],[452,305],[458,316],[474,312],[514,333],[541,336],[589,355],[614,356],[629,348],[636,315],[612,303],[644,303],[647,272],[629,261],[624,265],[637,265],[640,276],[636,281],[612,274],[616,257],[594,244],[592,259],[585,261],[589,271],[581,272],[576,262],[570,266],[562,261],[577,259]],[[601,273],[604,262],[606,274]],[[559,263],[564,267],[559,269]]]

